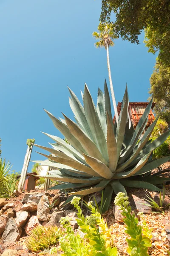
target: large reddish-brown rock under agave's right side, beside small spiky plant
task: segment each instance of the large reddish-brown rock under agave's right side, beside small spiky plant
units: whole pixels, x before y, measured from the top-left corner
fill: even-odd
[[[150,196],[149,192],[147,194]],[[148,199],[146,192],[143,189],[138,189],[133,195],[130,195],[129,202],[132,210],[134,212],[143,212],[144,214],[150,214],[152,212],[152,207],[144,205],[148,204],[145,200]]]

